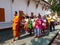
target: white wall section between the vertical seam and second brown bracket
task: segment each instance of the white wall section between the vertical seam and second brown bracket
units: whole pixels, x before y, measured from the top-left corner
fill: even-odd
[[[14,0],[14,3],[12,4],[12,11],[17,11],[19,13],[19,10],[22,10],[26,14],[26,7],[27,7],[27,1],[26,0]]]

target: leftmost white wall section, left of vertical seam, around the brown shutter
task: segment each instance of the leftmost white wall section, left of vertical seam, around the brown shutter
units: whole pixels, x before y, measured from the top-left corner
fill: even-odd
[[[0,0],[0,8],[5,9],[5,21],[11,21],[11,5],[10,0]]]

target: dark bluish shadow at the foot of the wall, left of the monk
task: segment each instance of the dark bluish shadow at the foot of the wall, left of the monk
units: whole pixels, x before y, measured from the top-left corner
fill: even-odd
[[[7,41],[12,37],[12,30],[0,31],[0,43],[4,43],[4,41]]]

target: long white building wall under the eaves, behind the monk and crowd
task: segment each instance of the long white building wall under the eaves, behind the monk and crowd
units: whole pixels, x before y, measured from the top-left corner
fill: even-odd
[[[12,7],[11,7],[12,6]],[[5,9],[5,21],[11,21],[13,18],[14,11],[17,11],[19,14],[19,10],[22,10],[25,14],[31,15],[31,12],[34,15],[45,14],[45,11],[42,10],[42,6],[39,4],[36,9],[36,3],[31,0],[29,7],[27,7],[27,0],[14,0],[14,3],[11,0],[0,0],[0,8]]]

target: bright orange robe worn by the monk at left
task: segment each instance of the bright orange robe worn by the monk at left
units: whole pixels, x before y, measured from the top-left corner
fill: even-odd
[[[19,37],[20,36],[20,19],[19,16],[15,16],[12,20],[12,29],[13,29],[13,36]]]

